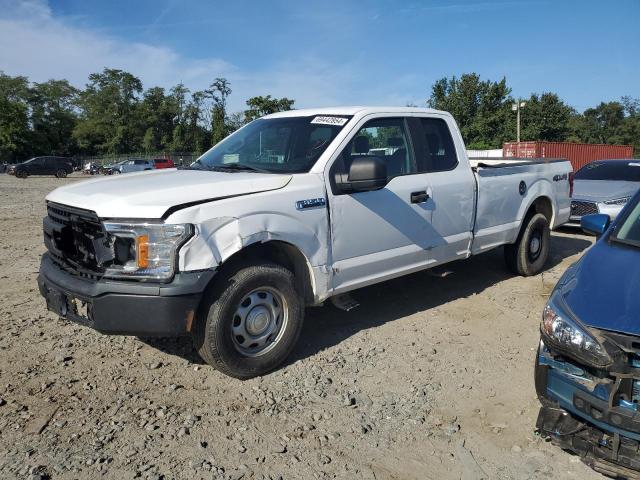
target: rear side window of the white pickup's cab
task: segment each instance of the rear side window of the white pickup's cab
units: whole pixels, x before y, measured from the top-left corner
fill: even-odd
[[[418,171],[443,172],[458,165],[453,138],[444,120],[421,118],[412,126]]]

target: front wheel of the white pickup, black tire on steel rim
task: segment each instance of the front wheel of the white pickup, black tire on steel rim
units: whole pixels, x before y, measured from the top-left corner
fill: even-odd
[[[289,270],[272,263],[241,267],[216,279],[214,288],[205,294],[193,332],[200,356],[225,375],[243,380],[279,366],[293,350],[302,331],[304,302],[295,285],[294,275]],[[273,298],[279,296],[280,299],[276,303],[283,304],[280,329],[273,333],[275,338],[266,341],[263,351],[247,353],[240,345],[245,342],[244,337],[235,335],[233,329],[240,325],[238,312],[241,307],[251,307],[252,301],[246,304],[246,300],[265,290],[274,292]],[[245,317],[249,318],[257,308],[261,305],[251,307]],[[269,316],[269,325],[278,323],[274,318],[278,316]],[[244,323],[242,328],[245,328]]]

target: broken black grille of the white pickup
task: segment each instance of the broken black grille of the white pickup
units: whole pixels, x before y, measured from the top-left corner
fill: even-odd
[[[49,203],[43,230],[53,261],[69,273],[100,278],[105,261],[113,259],[108,235],[94,212]]]

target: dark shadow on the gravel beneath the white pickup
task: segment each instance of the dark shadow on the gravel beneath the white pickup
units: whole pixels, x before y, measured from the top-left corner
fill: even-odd
[[[569,230],[567,233],[573,232]],[[546,268],[553,268],[564,258],[585,250],[591,245],[587,238],[554,234]],[[286,364],[336,345],[360,330],[480,293],[513,276],[504,264],[501,248],[453,262],[443,266],[442,270],[453,273],[440,278],[424,271],[357,290],[353,296],[360,302],[360,307],[352,312],[329,306],[330,302],[323,308],[308,308],[300,341]],[[169,355],[204,364],[190,337],[139,340]]]

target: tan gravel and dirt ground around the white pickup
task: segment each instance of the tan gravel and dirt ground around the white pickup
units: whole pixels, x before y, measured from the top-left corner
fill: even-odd
[[[534,433],[540,312],[588,237],[554,234],[537,277],[497,251],[309,309],[289,362],[241,382],[188,338],[45,310],[44,196],[71,181],[0,175],[0,478],[600,478]]]

